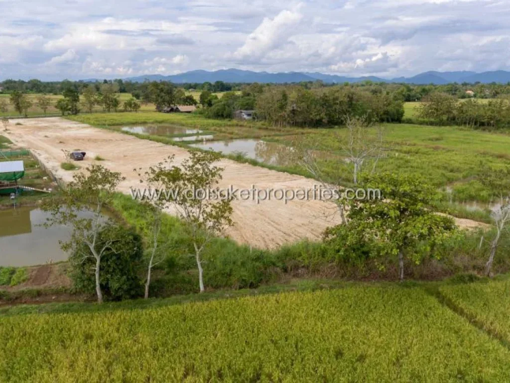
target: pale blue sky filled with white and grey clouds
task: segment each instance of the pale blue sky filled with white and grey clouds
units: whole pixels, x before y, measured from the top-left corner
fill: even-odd
[[[510,0],[0,0],[0,80],[510,70]]]

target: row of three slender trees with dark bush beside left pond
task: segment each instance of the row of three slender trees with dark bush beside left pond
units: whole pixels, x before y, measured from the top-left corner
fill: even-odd
[[[213,189],[221,179],[223,168],[214,163],[213,152],[191,152],[181,166],[171,165],[172,157],[142,173],[135,170],[151,190]],[[73,176],[58,199],[47,199],[42,208],[50,212],[45,226],[68,225],[69,241],[61,243],[70,251],[71,277],[75,289],[95,293],[97,301],[120,300],[140,296],[145,282],[145,298],[149,296],[152,269],[165,260],[168,240],[161,232],[164,209],[173,207],[186,226],[190,238],[188,251],[194,254],[198,268],[200,292],[205,291],[201,254],[212,238],[232,224],[232,200],[204,201],[186,193],[142,199],[150,212],[149,225],[126,227],[103,215],[112,208],[117,186],[125,178],[106,167],[92,164],[86,172]],[[90,214],[83,216],[83,211]],[[137,231],[144,234],[146,240]],[[145,275],[143,275],[145,270]]]

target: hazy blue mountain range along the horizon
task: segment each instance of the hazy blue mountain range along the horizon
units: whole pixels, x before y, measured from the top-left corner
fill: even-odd
[[[483,73],[476,73],[472,71],[454,71],[454,72],[437,72],[428,71],[420,73],[413,77],[398,77],[394,79],[383,79],[374,76],[368,77],[345,77],[336,75],[325,75],[322,73],[307,73],[307,72],[285,72],[285,73],[268,73],[268,72],[254,72],[250,70],[240,69],[222,69],[215,71],[207,70],[192,70],[179,75],[163,76],[163,75],[145,75],[138,77],[131,77],[125,80],[133,82],[143,81],[171,81],[176,84],[182,83],[204,83],[215,81],[223,82],[239,82],[239,83],[293,83],[301,81],[317,81],[321,80],[325,83],[355,83],[362,81],[374,82],[387,82],[387,83],[408,83],[408,84],[449,84],[449,83],[504,83],[510,82],[510,71],[497,70]]]

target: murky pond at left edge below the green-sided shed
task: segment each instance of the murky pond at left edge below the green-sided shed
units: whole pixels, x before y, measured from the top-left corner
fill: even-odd
[[[91,212],[81,212],[81,217],[90,217]],[[49,260],[58,262],[67,259],[59,241],[67,241],[70,227],[40,226],[50,214],[36,207],[18,207],[0,210],[0,266],[44,265]]]

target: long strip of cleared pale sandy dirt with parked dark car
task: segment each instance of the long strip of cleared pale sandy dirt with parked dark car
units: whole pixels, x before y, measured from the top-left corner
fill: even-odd
[[[15,125],[15,124],[22,125]],[[129,194],[130,188],[140,186],[135,168],[147,169],[151,165],[175,155],[175,163],[180,163],[188,152],[185,149],[162,143],[139,139],[130,135],[86,124],[68,121],[59,117],[11,120],[10,130],[2,132],[16,145],[31,149],[57,177],[70,181],[73,172],[62,170],[64,161],[62,150],[82,150],[87,152],[82,167],[100,161],[112,171],[120,172],[126,180],[119,190]],[[263,167],[222,159],[220,166],[225,168],[220,187],[246,188],[255,185],[258,189],[300,189],[313,188],[316,181],[301,176],[276,172]],[[239,243],[259,248],[274,248],[302,238],[317,239],[328,226],[340,222],[333,203],[322,201],[256,201],[236,200],[233,203],[235,225],[227,230],[227,235]],[[462,227],[475,227],[479,224],[470,220],[457,220]]]

